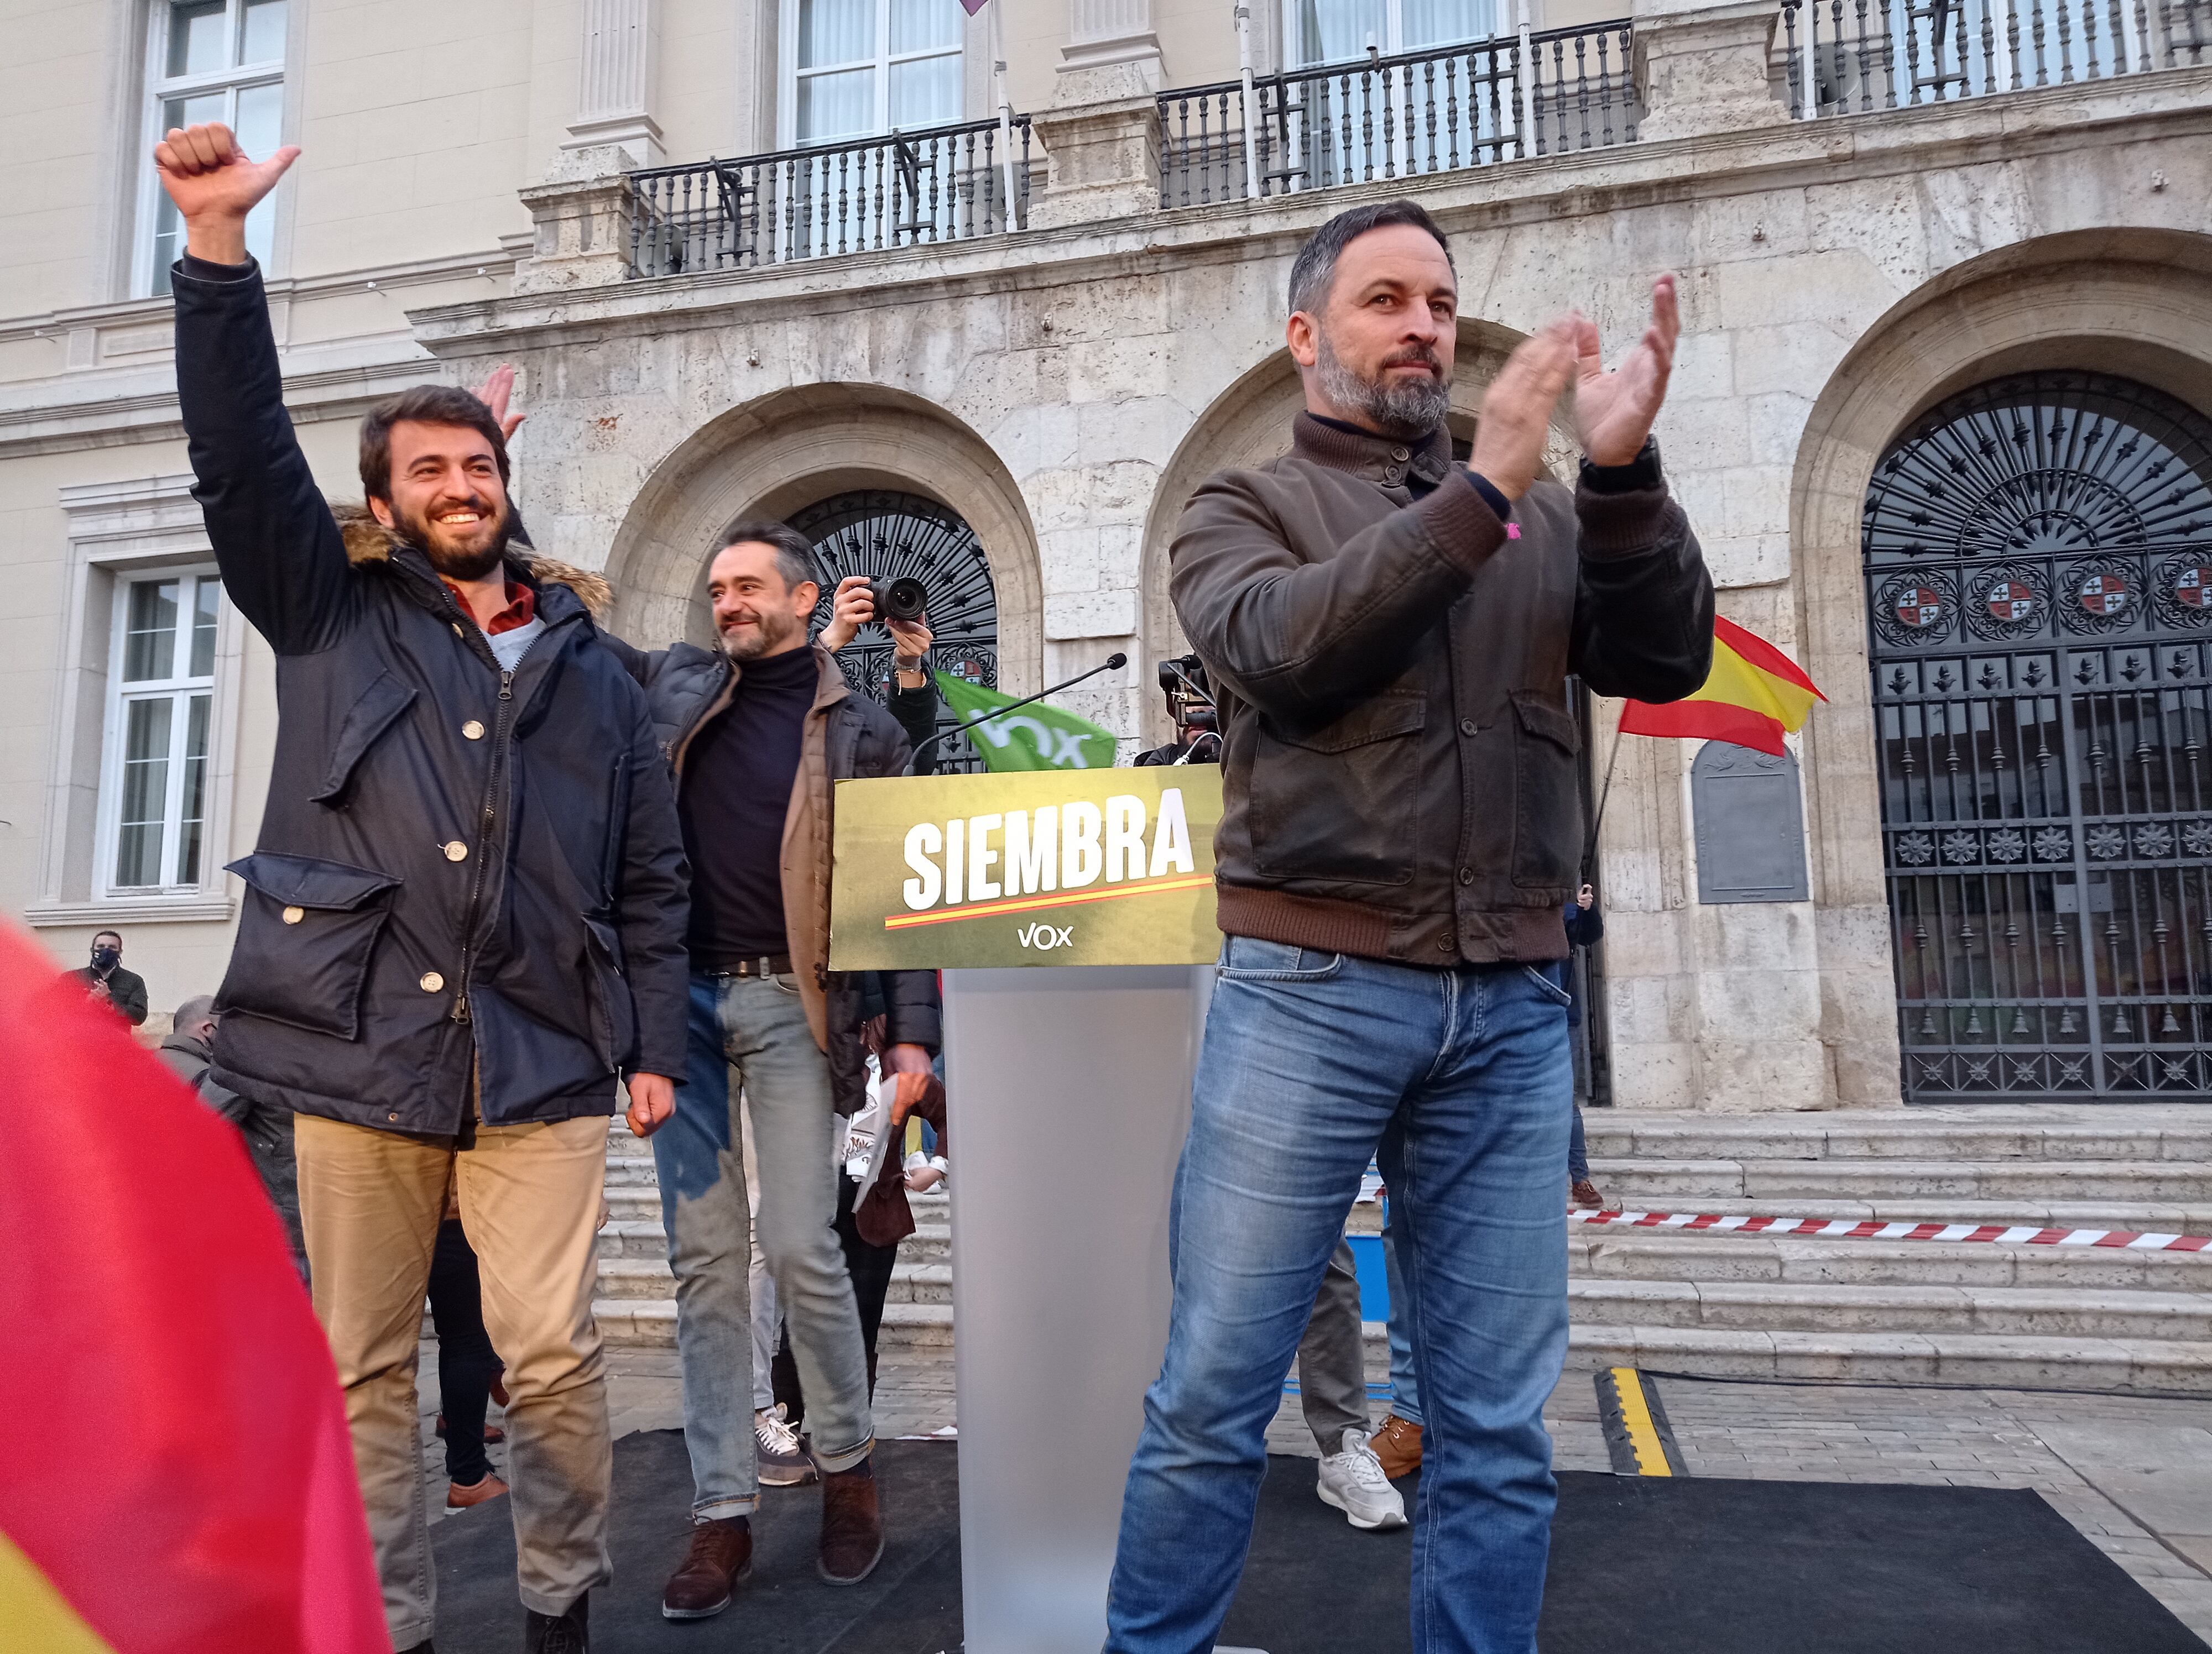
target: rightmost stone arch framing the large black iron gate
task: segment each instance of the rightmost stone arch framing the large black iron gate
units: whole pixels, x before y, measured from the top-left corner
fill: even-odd
[[[2212,237],[2084,230],[2024,241],[1918,287],[1845,354],[1814,402],[1790,491],[1796,635],[1829,703],[1805,725],[1823,1041],[1838,1090],[1898,1088],[1880,767],[1860,517],[1889,442],[1936,402],[2004,374],[2095,367],[2212,411]],[[2201,349],[2201,347],[2199,347]]]

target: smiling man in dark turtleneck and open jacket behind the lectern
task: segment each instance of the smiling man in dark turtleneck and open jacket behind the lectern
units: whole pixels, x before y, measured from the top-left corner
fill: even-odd
[[[867,1068],[860,988],[827,969],[830,809],[834,783],[902,774],[909,747],[889,712],[847,688],[830,650],[807,643],[818,597],[805,535],[739,522],[708,564],[719,648],[648,655],[602,639],[646,685],[692,865],[690,1055],[675,1119],[653,1139],[692,1462],[692,1537],[661,1594],[666,1619],[719,1614],[752,1566],[752,1229],[823,1479],[821,1574],[856,1585],[883,1557],[867,1349],[832,1227],[834,1114],[863,1106]],[[911,1106],[931,1079],[938,984],[929,971],[885,971],[880,982],[883,1066]],[[741,1090],[759,1214],[745,1203]]]

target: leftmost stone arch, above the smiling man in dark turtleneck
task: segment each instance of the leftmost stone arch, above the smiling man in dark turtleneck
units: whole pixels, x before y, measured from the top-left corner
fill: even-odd
[[[615,630],[644,646],[712,641],[706,557],[739,517],[787,517],[852,489],[900,489],[958,511],[998,595],[1000,688],[1042,685],[1037,533],[1006,464],[936,402],[883,385],[796,385],[701,425],[646,478],[615,533]]]

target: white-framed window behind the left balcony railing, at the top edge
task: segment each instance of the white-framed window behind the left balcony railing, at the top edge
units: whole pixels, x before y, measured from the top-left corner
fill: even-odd
[[[799,0],[799,144],[960,119],[960,0]]]

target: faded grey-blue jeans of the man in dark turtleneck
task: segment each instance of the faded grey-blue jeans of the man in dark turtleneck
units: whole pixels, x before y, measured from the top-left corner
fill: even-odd
[[[739,1090],[752,1119],[761,1210],[748,1212]],[[836,1114],[830,1059],[790,977],[692,975],[690,1053],[677,1112],[653,1134],[668,1267],[677,1276],[684,1444],[692,1519],[741,1517],[761,1501],[752,1442],[752,1234],[768,1256],[807,1428],[825,1470],[867,1457],[860,1309],[836,1229]]]

